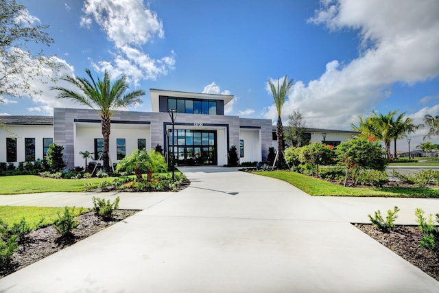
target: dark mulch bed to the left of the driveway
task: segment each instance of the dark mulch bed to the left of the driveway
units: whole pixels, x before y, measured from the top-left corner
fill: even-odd
[[[24,241],[20,244],[19,249],[12,255],[10,264],[0,269],[0,278],[12,274],[16,270],[20,270],[25,266],[29,266],[40,259],[48,257],[56,253],[62,248],[71,246],[75,242],[91,236],[104,228],[108,228],[116,222],[125,220],[139,211],[134,210],[117,210],[112,219],[108,222],[99,218],[93,211],[84,213],[78,217],[80,222],[78,228],[73,230],[73,236],[62,238],[52,226],[38,228],[32,231]]]

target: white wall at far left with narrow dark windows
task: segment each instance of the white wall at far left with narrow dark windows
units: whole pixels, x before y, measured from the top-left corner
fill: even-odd
[[[23,126],[6,126],[8,131],[0,128],[0,162],[6,162],[6,138],[16,138],[16,162],[14,165],[18,166],[19,162],[25,161],[25,138],[35,139],[35,159],[43,158],[43,138],[54,138],[54,126],[47,125],[23,125]]]

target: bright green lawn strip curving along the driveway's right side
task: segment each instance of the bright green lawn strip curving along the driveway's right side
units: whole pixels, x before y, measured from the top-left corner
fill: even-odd
[[[371,187],[357,188],[335,185],[328,181],[290,171],[258,171],[254,174],[286,181],[311,196],[375,196],[398,198],[439,198],[438,188]]]

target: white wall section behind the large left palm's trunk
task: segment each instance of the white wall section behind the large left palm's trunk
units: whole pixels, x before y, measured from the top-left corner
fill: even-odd
[[[84,167],[85,159],[82,159],[82,155],[79,152],[95,152],[95,139],[102,139],[101,124],[95,124],[93,126],[81,126],[75,127],[75,166]],[[122,126],[115,126],[112,124],[110,134],[110,160],[112,163],[117,163],[117,139],[125,139],[126,144],[126,156],[130,155],[133,150],[137,149],[137,139],[146,139],[146,148],[150,149],[151,146],[151,131],[149,126],[137,126],[136,129],[121,128]],[[162,145],[163,147],[163,145]],[[94,154],[91,155],[92,159],[87,159],[87,163],[95,161]],[[68,158],[67,158],[68,159]],[[97,161],[97,163],[103,163],[103,161]]]

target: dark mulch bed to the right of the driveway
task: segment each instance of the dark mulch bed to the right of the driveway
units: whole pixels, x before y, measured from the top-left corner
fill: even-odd
[[[361,231],[439,281],[439,255],[419,246],[417,226],[395,226],[385,233],[371,224],[355,224]]]

